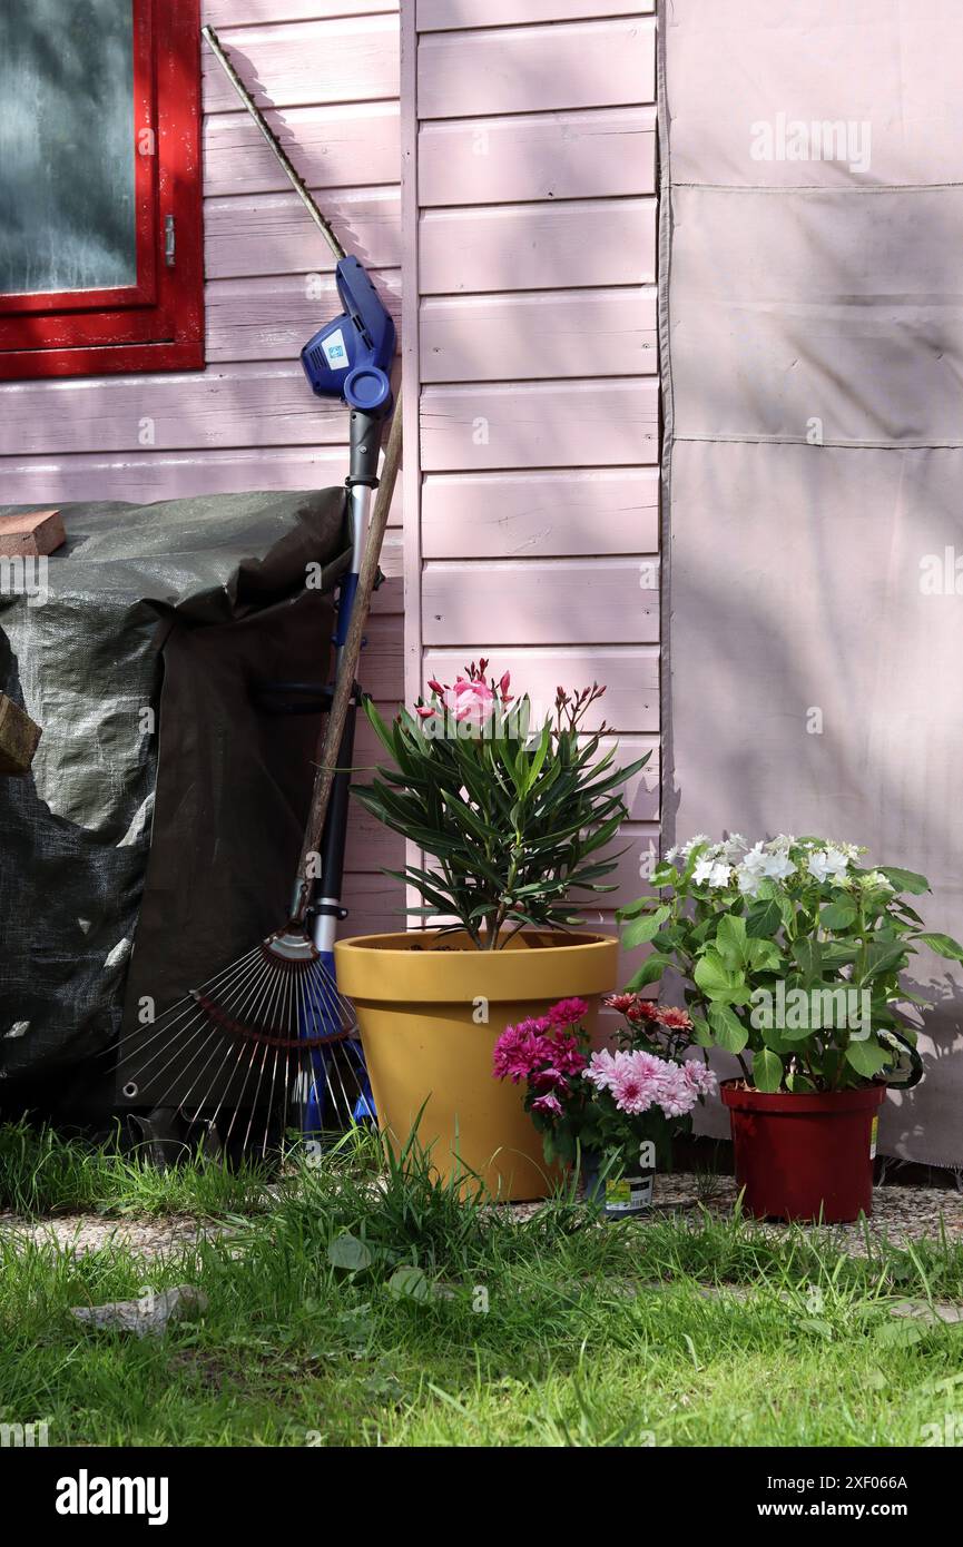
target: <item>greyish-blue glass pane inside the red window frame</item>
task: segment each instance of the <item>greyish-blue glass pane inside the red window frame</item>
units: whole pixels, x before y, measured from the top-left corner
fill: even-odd
[[[0,0],[0,294],[136,282],[133,0]]]

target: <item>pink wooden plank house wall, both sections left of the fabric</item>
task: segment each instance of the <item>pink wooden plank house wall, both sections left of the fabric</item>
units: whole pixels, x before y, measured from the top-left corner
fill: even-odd
[[[364,668],[386,709],[485,651],[540,698],[605,682],[629,750],[658,746],[652,9],[203,0],[401,323],[404,490]],[[203,365],[0,381],[3,503],[344,476],[345,416],[297,360],[331,261],[204,54]],[[622,897],[655,852],[656,783],[653,758]],[[358,811],[351,933],[396,927],[399,862]]]

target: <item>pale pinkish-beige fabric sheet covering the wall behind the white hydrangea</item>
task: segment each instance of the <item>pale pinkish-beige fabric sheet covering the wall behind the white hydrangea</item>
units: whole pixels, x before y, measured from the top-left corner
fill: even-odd
[[[661,22],[664,842],[865,843],[960,936],[963,6]],[[963,1165],[963,978],[915,979],[881,1149]]]

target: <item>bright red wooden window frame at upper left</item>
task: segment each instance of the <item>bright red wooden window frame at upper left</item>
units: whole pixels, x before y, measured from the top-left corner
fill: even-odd
[[[204,364],[200,3],[133,0],[136,282],[0,294],[0,381]]]

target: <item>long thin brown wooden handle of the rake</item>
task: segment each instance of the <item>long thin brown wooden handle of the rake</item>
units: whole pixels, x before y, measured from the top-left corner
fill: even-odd
[[[364,548],[364,558],[361,560],[361,572],[358,575],[358,589],[355,593],[355,605],[351,608],[351,622],[348,623],[348,634],[344,642],[344,651],[338,667],[338,682],[334,685],[334,698],[331,699],[331,710],[328,713],[328,722],[319,749],[317,774],[314,775],[314,794],[311,795],[311,808],[308,811],[305,840],[300,849],[300,859],[297,862],[297,874],[300,877],[300,902],[297,905],[294,917],[299,924],[303,924],[311,899],[313,877],[308,874],[308,871],[311,866],[311,860],[320,854],[324,825],[328,815],[328,806],[331,804],[331,789],[334,787],[334,775],[338,774],[338,753],[341,750],[341,738],[344,736],[344,727],[347,724],[348,709],[351,705],[351,696],[355,693],[355,679],[358,676],[358,662],[361,659],[361,644],[364,639],[364,630],[368,619],[368,608],[372,605],[372,593],[375,589],[375,580],[378,577],[381,545],[384,543],[384,532],[389,524],[389,511],[392,507],[392,498],[395,495],[395,484],[398,483],[399,466],[401,466],[401,393],[398,393],[398,401],[395,402],[395,415],[392,418],[392,430],[384,453],[381,483],[378,484],[378,498],[375,500],[375,514],[372,515],[372,524],[368,528],[368,535]]]

